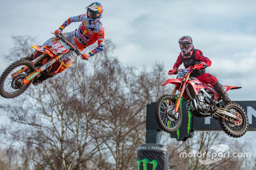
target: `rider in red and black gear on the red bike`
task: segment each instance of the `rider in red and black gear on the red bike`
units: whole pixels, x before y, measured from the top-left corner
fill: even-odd
[[[185,68],[188,68],[189,66],[194,66],[195,64],[204,62],[204,68],[201,70],[193,70],[190,77],[195,77],[204,84],[212,85],[224,103],[230,103],[231,100],[229,99],[228,94],[224,91],[223,86],[219,83],[217,78],[210,73],[205,73],[205,68],[212,64],[211,60],[205,57],[202,51],[194,48],[193,41],[190,36],[183,36],[178,42],[180,44],[181,53],[178,56],[176,63],[173,65],[173,69],[170,70],[168,74],[171,75],[170,72],[175,71],[177,73],[178,68],[182,63]]]

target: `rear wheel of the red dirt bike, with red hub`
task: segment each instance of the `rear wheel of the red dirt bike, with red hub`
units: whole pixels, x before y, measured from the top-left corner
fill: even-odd
[[[248,117],[242,106],[231,102],[222,106],[227,112],[236,115],[238,120],[233,119],[232,122],[225,118],[220,118],[219,123],[221,129],[231,137],[241,137],[248,130]],[[227,117],[226,117],[227,118]]]

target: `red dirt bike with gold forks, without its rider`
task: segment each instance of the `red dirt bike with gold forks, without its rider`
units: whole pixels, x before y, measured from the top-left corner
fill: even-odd
[[[181,98],[188,100],[187,110],[197,117],[211,116],[219,120],[221,129],[231,137],[241,137],[248,129],[248,117],[243,107],[231,102],[220,106],[220,95],[211,85],[205,85],[198,79],[189,77],[193,70],[204,68],[204,63],[180,69],[176,79],[168,79],[162,85],[174,84],[172,95],[165,94],[156,102],[155,116],[159,127],[167,133],[176,132],[182,122]],[[172,73],[174,74],[174,72]],[[239,89],[238,86],[223,85],[227,92]],[[175,93],[178,89],[177,98]]]

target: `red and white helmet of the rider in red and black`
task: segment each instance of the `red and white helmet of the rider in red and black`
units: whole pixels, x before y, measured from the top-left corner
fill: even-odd
[[[181,56],[185,60],[190,59],[194,49],[192,38],[190,36],[183,36],[178,42],[180,43]]]

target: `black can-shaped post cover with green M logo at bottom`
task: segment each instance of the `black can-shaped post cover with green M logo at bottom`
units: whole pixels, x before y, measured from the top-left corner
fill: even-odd
[[[137,170],[168,170],[168,151],[161,144],[140,144],[137,150]]]

